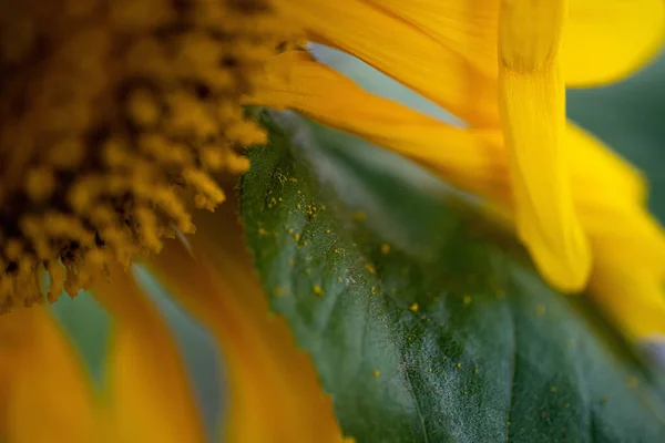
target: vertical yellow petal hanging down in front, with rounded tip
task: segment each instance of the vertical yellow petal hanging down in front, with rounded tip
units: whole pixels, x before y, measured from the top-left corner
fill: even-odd
[[[499,103],[518,235],[550,284],[579,291],[591,271],[591,250],[573,208],[563,140],[559,44],[564,16],[564,0],[502,3]]]

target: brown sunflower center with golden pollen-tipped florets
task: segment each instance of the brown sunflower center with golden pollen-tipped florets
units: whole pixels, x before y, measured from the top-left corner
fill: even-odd
[[[241,96],[280,37],[269,0],[22,0],[0,17],[0,312],[74,296],[193,233],[239,151]]]

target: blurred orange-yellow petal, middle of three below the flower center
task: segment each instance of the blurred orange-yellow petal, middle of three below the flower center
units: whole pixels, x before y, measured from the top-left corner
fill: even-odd
[[[204,430],[173,336],[124,269],[95,281],[115,319],[109,356],[110,441],[201,443]]]

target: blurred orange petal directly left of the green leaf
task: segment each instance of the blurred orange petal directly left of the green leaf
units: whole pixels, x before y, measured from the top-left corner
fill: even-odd
[[[197,220],[196,258],[176,241],[152,258],[153,270],[221,344],[231,390],[224,441],[341,442],[309,357],[285,320],[268,311],[234,210],[225,204],[211,230]],[[204,255],[211,245],[215,251]]]

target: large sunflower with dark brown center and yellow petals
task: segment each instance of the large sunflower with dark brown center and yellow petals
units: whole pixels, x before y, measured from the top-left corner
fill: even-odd
[[[194,208],[227,198],[214,175],[244,172],[242,150],[266,141],[242,103],[299,111],[484,197],[554,286],[579,290],[591,272],[591,293],[628,333],[663,332],[665,244],[643,207],[643,181],[564,120],[564,79],[614,81],[659,45],[663,4],[622,4],[579,0],[570,17],[563,1],[508,0],[3,6],[7,440],[203,440],[173,340],[127,272],[145,257],[225,351],[235,388],[231,441],[342,439],[309,360],[282,320],[266,317],[233,205],[201,215],[198,234],[188,244],[181,238],[195,230]],[[366,93],[291,44],[303,35],[359,56],[469,126]],[[115,319],[101,395],[40,306],[43,292],[54,302],[81,288]],[[270,413],[260,414],[265,408]]]

